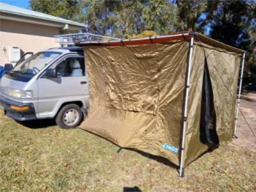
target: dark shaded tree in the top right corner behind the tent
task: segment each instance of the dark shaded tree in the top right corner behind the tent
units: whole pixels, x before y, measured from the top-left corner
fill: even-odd
[[[246,50],[246,70],[256,76],[256,5],[253,1],[221,1],[210,36]],[[256,79],[255,79],[256,80]]]

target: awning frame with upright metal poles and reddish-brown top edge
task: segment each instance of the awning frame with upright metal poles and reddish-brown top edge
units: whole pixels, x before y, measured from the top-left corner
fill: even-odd
[[[159,36],[150,36],[143,38],[134,38],[127,40],[87,40],[77,42],[78,46],[86,46],[86,45],[105,45],[105,46],[125,46],[125,45],[143,45],[143,44],[161,44],[164,42],[170,41],[189,41],[189,53],[188,53],[188,61],[186,67],[186,90],[184,95],[184,105],[183,105],[183,114],[182,114],[182,127],[180,130],[180,148],[179,148],[179,176],[184,177],[184,152],[185,152],[185,143],[186,143],[186,129],[188,126],[188,104],[189,104],[189,86],[190,86],[190,75],[191,75],[191,66],[193,59],[193,46],[194,40],[198,39],[200,42],[204,44],[214,45],[215,47],[219,47],[221,49],[225,49],[230,52],[237,52],[238,54],[242,54],[243,58],[241,58],[242,68],[241,68],[241,77],[239,83],[239,95],[237,97],[237,113],[236,113],[236,122],[234,129],[234,136],[236,136],[236,127],[237,127],[237,116],[239,111],[240,97],[241,97],[241,87],[242,87],[242,79],[243,79],[243,70],[244,70],[244,58],[245,51],[241,49],[237,49],[236,47],[231,47],[230,45],[223,44],[212,38],[209,38],[200,33],[196,33],[193,31],[183,31],[179,33],[173,33],[170,35],[159,35]]]

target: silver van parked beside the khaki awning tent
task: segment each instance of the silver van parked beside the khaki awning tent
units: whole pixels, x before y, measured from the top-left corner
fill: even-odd
[[[37,52],[0,80],[0,105],[17,121],[55,118],[61,128],[81,123],[88,108],[88,74],[82,47]]]

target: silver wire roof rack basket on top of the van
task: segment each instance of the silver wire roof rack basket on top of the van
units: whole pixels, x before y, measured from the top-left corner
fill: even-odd
[[[60,45],[75,45],[77,42],[102,42],[120,40],[120,38],[113,38],[111,36],[95,35],[92,33],[72,33],[65,35],[54,35],[56,42]]]

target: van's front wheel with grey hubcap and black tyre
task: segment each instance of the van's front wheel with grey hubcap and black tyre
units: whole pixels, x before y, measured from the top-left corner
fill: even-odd
[[[56,124],[63,129],[72,129],[81,123],[83,113],[76,104],[67,104],[56,116]]]

